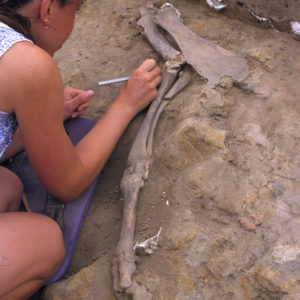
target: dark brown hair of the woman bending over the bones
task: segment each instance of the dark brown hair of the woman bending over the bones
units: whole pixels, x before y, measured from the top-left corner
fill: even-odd
[[[25,37],[33,40],[30,33],[30,21],[21,16],[20,8],[30,3],[32,0],[0,0],[0,22],[22,33]],[[57,0],[61,7],[65,6],[69,0]]]

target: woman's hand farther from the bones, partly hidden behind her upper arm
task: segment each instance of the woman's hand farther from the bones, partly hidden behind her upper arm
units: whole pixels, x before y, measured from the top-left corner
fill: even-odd
[[[81,116],[89,106],[89,101],[93,95],[94,92],[91,90],[83,91],[66,87],[64,89],[64,120]]]

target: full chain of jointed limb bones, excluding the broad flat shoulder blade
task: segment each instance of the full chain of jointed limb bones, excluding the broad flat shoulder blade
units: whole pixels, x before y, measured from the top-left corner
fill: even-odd
[[[151,10],[148,10],[151,13]],[[147,12],[143,14],[143,17]],[[147,24],[156,26],[151,19],[148,18]],[[141,24],[141,23],[140,23]],[[149,28],[147,25],[144,28]],[[151,27],[150,26],[150,27]],[[153,31],[154,29],[154,31]],[[145,35],[150,32],[145,30]],[[127,167],[121,179],[121,192],[124,198],[123,220],[121,227],[120,240],[116,249],[116,255],[113,260],[112,273],[114,277],[114,290],[118,299],[133,300],[150,300],[152,295],[147,292],[146,288],[138,285],[132,279],[136,271],[137,258],[133,251],[134,246],[134,231],[136,223],[136,206],[138,201],[138,194],[141,187],[144,185],[144,180],[148,178],[148,173],[151,164],[153,134],[158,122],[159,116],[166,106],[168,101],[163,100],[165,94],[170,90],[175,82],[182,65],[185,60],[179,51],[172,48],[158,30],[152,28],[150,40],[154,45],[162,45],[163,47],[156,47],[159,53],[167,59],[164,67],[163,79],[158,91],[156,99],[152,102],[146,117],[138,131],[138,134],[130,149]],[[179,81],[184,79],[185,84],[175,84],[175,95],[188,83],[188,77],[180,76]],[[171,97],[169,96],[169,99]]]

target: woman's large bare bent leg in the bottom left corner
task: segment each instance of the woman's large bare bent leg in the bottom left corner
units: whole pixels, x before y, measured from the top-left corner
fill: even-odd
[[[50,218],[0,213],[0,299],[27,299],[56,271],[64,254],[61,230]]]

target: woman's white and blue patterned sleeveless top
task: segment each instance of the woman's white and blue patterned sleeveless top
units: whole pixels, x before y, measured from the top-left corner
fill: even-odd
[[[11,46],[24,41],[32,42],[21,33],[0,22],[0,59]],[[4,158],[5,149],[12,142],[17,127],[18,123],[14,113],[0,111],[0,159]]]

